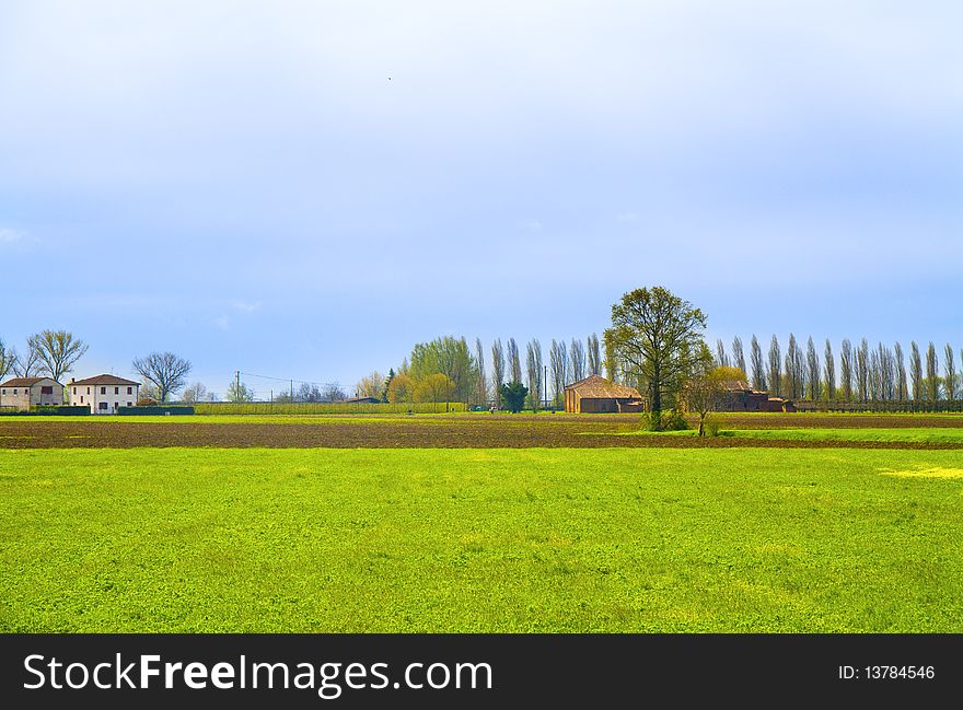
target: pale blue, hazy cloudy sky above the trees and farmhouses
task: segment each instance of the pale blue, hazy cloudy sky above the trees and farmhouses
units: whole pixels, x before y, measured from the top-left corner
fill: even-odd
[[[0,0],[0,338],[339,382],[584,338],[963,347],[963,4]],[[243,377],[268,396],[283,385]]]

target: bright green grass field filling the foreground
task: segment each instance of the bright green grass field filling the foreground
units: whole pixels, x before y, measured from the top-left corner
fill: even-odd
[[[963,632],[959,451],[31,449],[0,485],[2,631]]]

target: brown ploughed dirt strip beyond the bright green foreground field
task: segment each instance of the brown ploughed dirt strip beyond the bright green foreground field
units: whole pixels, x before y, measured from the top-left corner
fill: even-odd
[[[840,417],[820,415],[730,416],[739,429],[813,428],[963,428],[963,417]],[[332,419],[321,423],[205,423],[204,418],[165,422],[0,420],[0,449],[135,449],[211,446],[223,449],[525,449],[525,447],[787,447],[787,449],[963,449],[951,442],[788,441],[671,434],[618,437],[638,431],[638,417],[479,416]]]

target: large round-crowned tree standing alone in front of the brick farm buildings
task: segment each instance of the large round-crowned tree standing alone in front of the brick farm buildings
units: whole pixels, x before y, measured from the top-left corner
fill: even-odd
[[[605,344],[648,385],[652,427],[675,399],[701,352],[706,316],[662,287],[636,289],[612,306]]]

